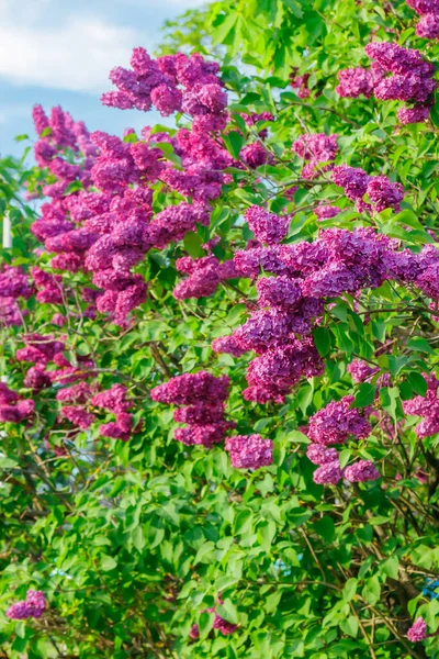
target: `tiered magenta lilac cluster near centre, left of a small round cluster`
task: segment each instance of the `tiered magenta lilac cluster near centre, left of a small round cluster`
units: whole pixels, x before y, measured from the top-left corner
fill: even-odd
[[[224,420],[228,386],[226,376],[215,378],[207,371],[199,371],[177,376],[153,389],[150,395],[160,403],[184,405],[173,414],[177,422],[187,424],[175,431],[178,442],[211,448],[223,442],[225,432],[235,425]]]

